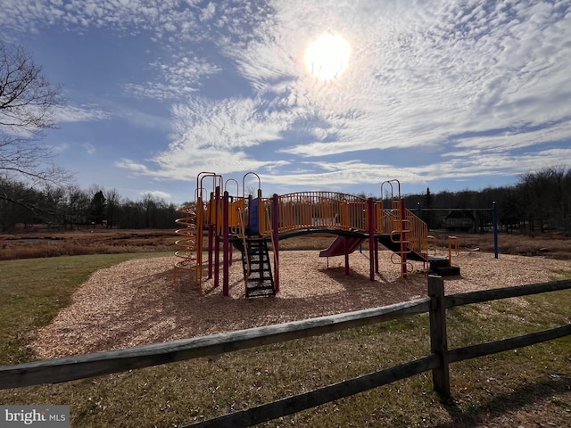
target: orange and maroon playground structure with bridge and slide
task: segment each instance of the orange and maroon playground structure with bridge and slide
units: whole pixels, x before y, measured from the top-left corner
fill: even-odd
[[[246,195],[245,180],[252,177],[258,183],[257,194]],[[234,186],[236,192],[230,195],[228,189],[234,190]],[[391,260],[400,265],[402,278],[410,272],[410,260],[422,261],[425,268],[429,262],[426,223],[404,206],[398,180],[381,185],[381,194],[387,195],[385,201],[328,191],[262,198],[260,177],[253,172],[244,175],[242,189],[242,194],[237,194],[236,180],[224,182],[213,172],[198,175],[194,203],[178,210],[183,217],[177,220],[181,227],[176,231],[176,243],[181,249],[175,253],[179,258],[174,265],[175,281],[179,270],[190,271],[202,293],[203,270],[207,268],[209,279],[214,277],[216,288],[221,266],[222,293],[228,296],[228,269],[234,247],[242,255],[246,297],[275,295],[279,292],[280,240],[315,233],[337,235],[319,256],[344,256],[347,275],[349,254],[361,243],[368,243],[371,281],[379,272],[379,243],[393,251]],[[390,206],[385,207],[387,202]]]

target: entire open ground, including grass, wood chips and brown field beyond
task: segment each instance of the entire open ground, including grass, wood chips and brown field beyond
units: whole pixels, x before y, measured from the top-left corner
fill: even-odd
[[[446,236],[436,235],[439,251],[446,251]],[[343,275],[339,258],[325,268],[315,250],[326,248],[332,236],[281,243],[282,249],[296,251],[284,255],[281,269],[290,279],[275,300],[241,298],[239,280],[232,282],[231,300],[211,282],[204,285],[204,296],[173,286],[176,237],[171,231],[34,231],[11,238],[0,243],[3,258],[17,259],[0,262],[4,364],[315,317],[405,300],[426,290],[424,274],[415,272],[402,283],[398,269],[387,268],[385,261],[379,283],[371,284],[367,271],[360,270],[365,256],[358,252],[352,255],[352,276]],[[493,250],[492,235],[460,235],[459,242],[463,274],[448,283],[448,292],[571,276],[571,241],[556,236],[500,235],[501,257],[495,261],[486,252]],[[33,251],[40,257],[79,251],[112,255],[22,259]],[[142,259],[133,260],[136,256]],[[123,260],[128,261],[116,265]],[[472,268],[485,271],[475,276]],[[509,277],[497,280],[500,274]],[[308,284],[319,288],[302,295]],[[570,299],[564,292],[454,310],[451,346],[569,322]],[[426,348],[426,317],[416,317],[218,358],[0,391],[0,402],[71,404],[72,426],[184,426],[415,358]],[[450,403],[439,401],[425,374],[264,426],[565,427],[571,417],[570,365],[566,338],[454,365]]]

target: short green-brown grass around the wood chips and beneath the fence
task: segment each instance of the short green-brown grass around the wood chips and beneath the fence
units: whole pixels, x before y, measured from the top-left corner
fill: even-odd
[[[28,345],[37,327],[67,306],[95,270],[161,255],[1,261],[1,363],[35,359]],[[570,303],[566,291],[452,309],[449,348],[564,325]],[[186,426],[428,352],[428,317],[422,315],[214,358],[0,391],[0,402],[70,405],[74,427]],[[453,364],[451,391],[453,399],[442,402],[425,373],[263,426],[569,426],[571,337]]]

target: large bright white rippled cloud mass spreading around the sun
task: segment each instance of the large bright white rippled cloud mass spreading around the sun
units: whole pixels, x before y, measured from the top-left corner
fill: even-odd
[[[247,102],[219,101],[206,109],[190,104],[186,113],[179,108],[178,136],[171,149],[178,152],[183,144],[193,148],[190,152],[206,153],[198,156],[201,161],[214,157],[222,164],[231,154],[228,149],[249,145],[305,159],[368,151],[380,164],[382,152],[395,148],[406,157],[407,150],[433,146],[444,156],[426,170],[324,161],[335,171],[291,176],[292,183],[330,184],[362,181],[362,171],[370,169],[383,169],[383,177],[404,174],[413,181],[483,176],[494,170],[502,173],[497,168],[501,161],[506,174],[513,174],[517,169],[509,161],[515,157],[512,150],[571,136],[571,86],[563,85],[569,81],[571,46],[560,45],[561,32],[570,34],[571,14],[553,12],[546,5],[542,12],[517,4],[471,11],[460,4],[422,6],[280,3],[278,27],[255,42],[225,50],[257,96]],[[323,83],[303,70],[301,53],[310,37],[331,28],[352,41],[353,63],[341,78]],[[547,62],[545,52],[554,53]],[[250,111],[260,114],[248,117]],[[302,122],[302,132],[313,141],[286,141],[285,133],[300,130]],[[271,140],[280,142],[277,150],[267,143]],[[210,147],[224,150],[218,156],[204,152]],[[485,152],[478,162],[468,161],[476,151]],[[161,164],[172,157],[181,159],[165,152]],[[238,159],[244,161],[244,153]],[[178,161],[185,162],[192,161]],[[311,165],[315,168],[318,162]],[[289,178],[280,173],[271,179]],[[373,174],[368,180],[378,178]]]

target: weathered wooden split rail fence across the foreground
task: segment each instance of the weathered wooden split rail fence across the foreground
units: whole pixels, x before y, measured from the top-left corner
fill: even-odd
[[[546,342],[571,335],[571,324],[501,341],[485,342],[448,350],[446,309],[471,303],[482,303],[568,289],[571,289],[571,280],[445,296],[443,278],[440,276],[428,276],[428,297],[382,308],[364,309],[328,317],[294,321],[281,325],[267,325],[175,342],[156,343],[126,350],[112,350],[77,357],[36,361],[17,366],[3,366],[0,367],[0,389],[21,388],[43,383],[68,382],[192,358],[209,357],[235,350],[244,350],[363,325],[377,324],[427,312],[430,317],[431,353],[424,358],[418,358],[398,366],[391,366],[341,383],[327,385],[300,395],[279,399],[258,407],[219,416],[192,426],[242,427],[261,424],[277,417],[292,415],[335,399],[343,399],[429,370],[432,370],[434,390],[444,398],[447,398],[451,395],[449,378],[449,366],[451,363],[505,350],[514,350],[534,343]]]

